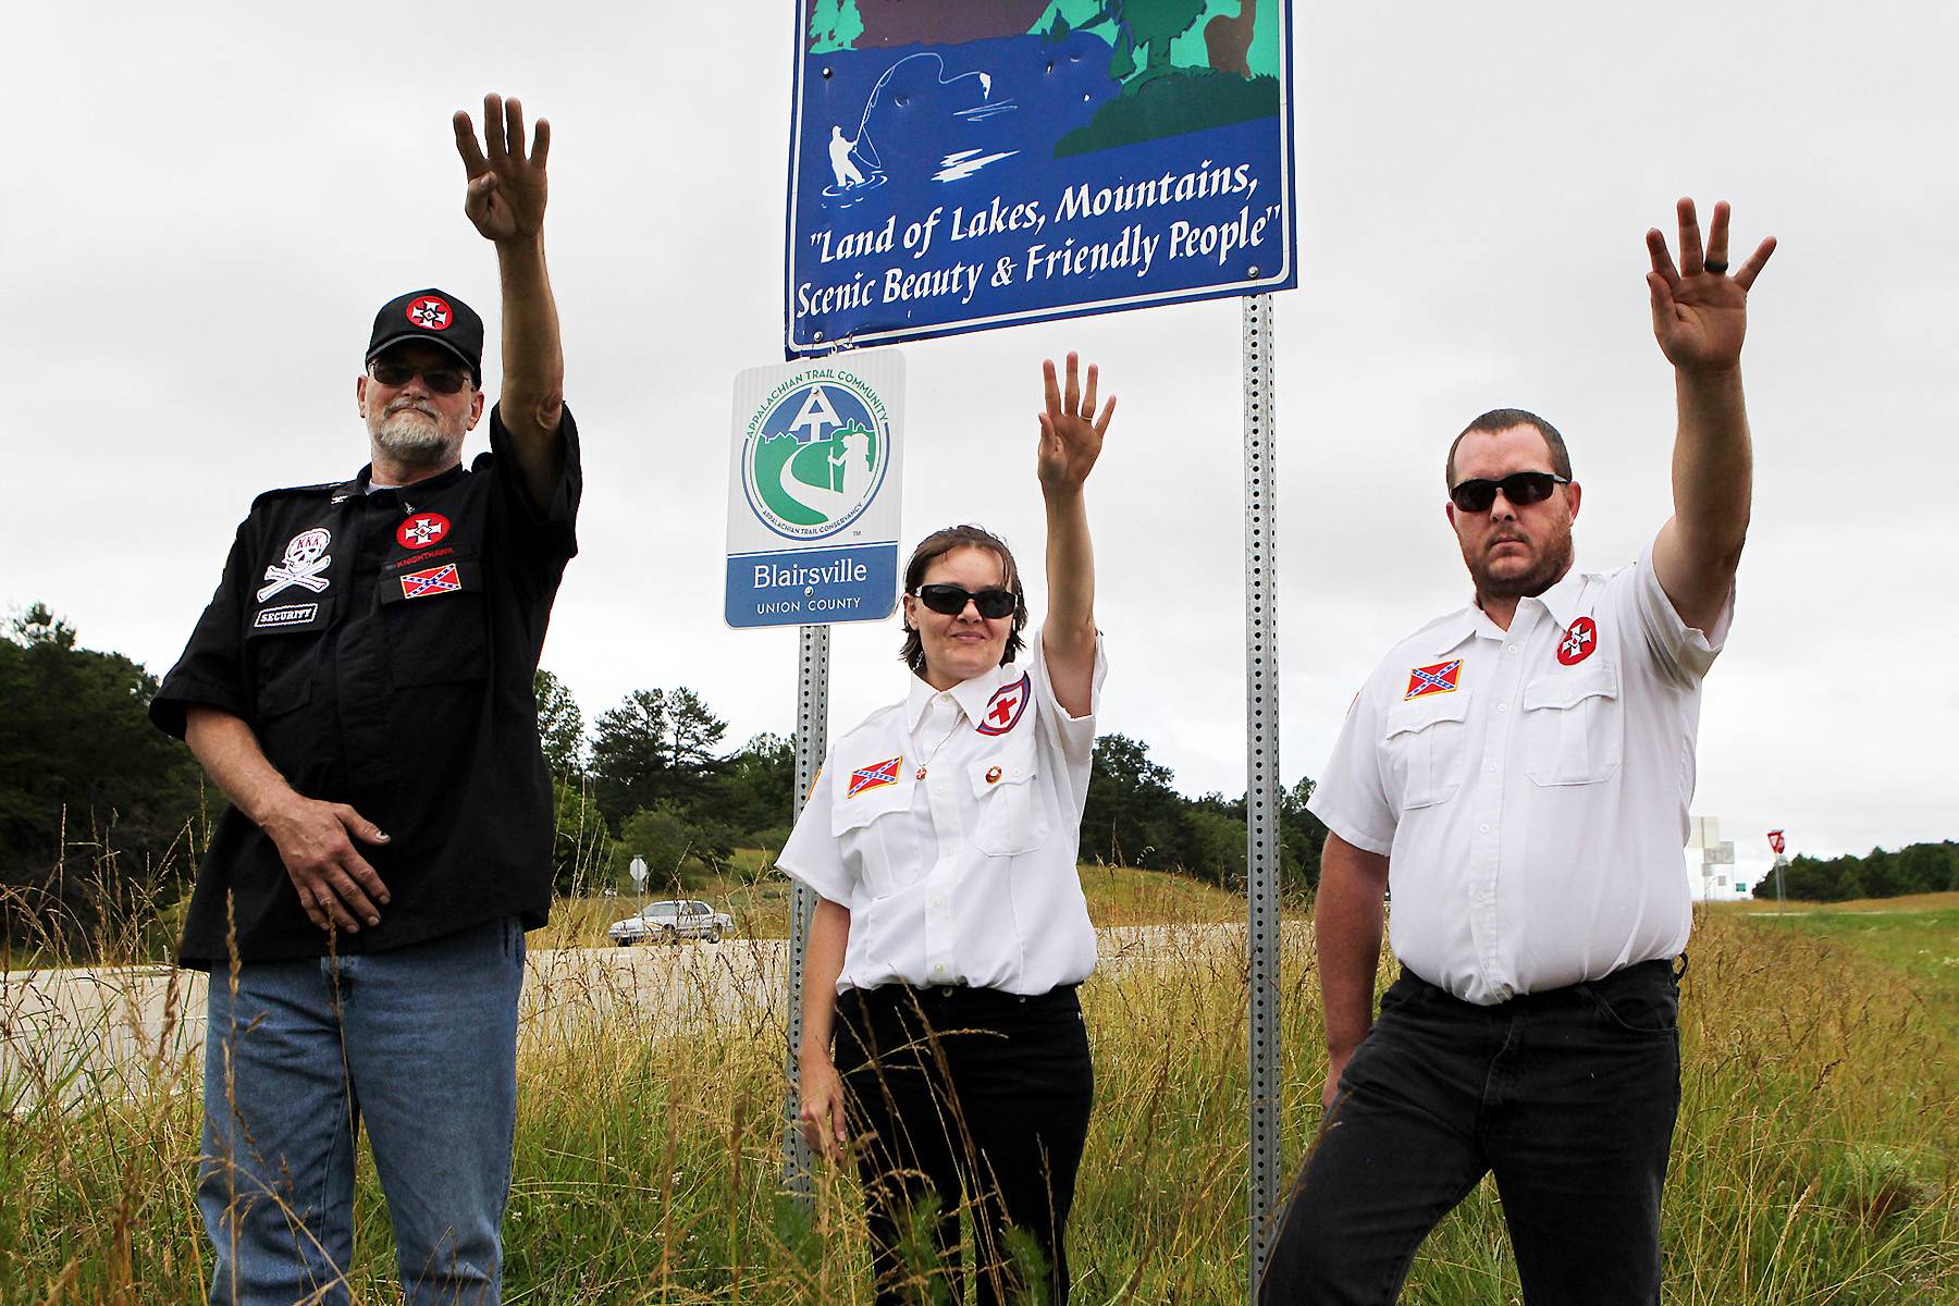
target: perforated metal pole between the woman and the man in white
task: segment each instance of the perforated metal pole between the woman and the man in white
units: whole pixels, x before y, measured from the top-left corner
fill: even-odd
[[[1250,1061],[1250,1220],[1246,1300],[1279,1204],[1279,646],[1271,413],[1271,296],[1244,302],[1244,734],[1246,734],[1246,1055]]]

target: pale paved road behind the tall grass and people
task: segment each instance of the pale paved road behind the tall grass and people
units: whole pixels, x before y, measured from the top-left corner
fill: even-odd
[[[1291,928],[1291,926],[1289,926]],[[1236,963],[1244,926],[1099,930],[1101,971]],[[217,975],[223,983],[223,975]],[[168,965],[0,975],[0,1110],[49,1096],[86,1104],[196,1085],[204,1048],[198,971]],[[533,952],[523,987],[525,1042],[560,1044],[603,1028],[670,1038],[748,1026],[784,1038],[788,942]]]

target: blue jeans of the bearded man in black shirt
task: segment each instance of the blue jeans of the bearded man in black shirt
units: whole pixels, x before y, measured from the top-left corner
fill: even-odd
[[[349,1300],[366,1122],[409,1306],[496,1306],[523,928],[212,973],[198,1208],[214,1306]]]

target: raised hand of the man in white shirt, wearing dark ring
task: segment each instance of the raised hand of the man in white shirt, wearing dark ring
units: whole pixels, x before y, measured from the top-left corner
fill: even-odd
[[[1747,335],[1747,290],[1775,253],[1775,237],[1755,247],[1734,274],[1728,274],[1728,202],[1714,206],[1706,253],[1700,249],[1700,221],[1695,202],[1679,202],[1681,264],[1673,266],[1667,237],[1659,227],[1646,233],[1646,253],[1653,270],[1646,286],[1653,294],[1653,339],[1675,368],[1724,370],[1742,360]]]

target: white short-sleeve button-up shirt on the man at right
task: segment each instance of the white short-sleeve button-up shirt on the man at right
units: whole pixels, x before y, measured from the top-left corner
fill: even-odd
[[[1471,603],[1387,654],[1307,805],[1389,858],[1389,942],[1422,979],[1503,1003],[1677,956],[1700,679],[1734,615],[1687,627],[1651,548]]]

